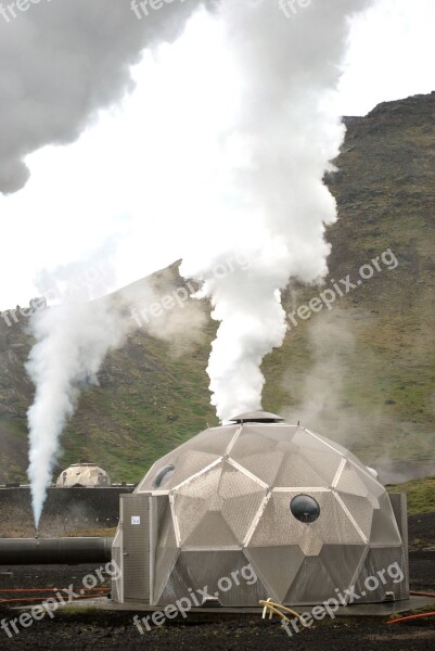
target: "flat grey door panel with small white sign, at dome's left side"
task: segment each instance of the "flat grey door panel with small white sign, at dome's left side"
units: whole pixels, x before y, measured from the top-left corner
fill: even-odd
[[[150,603],[150,498],[146,495],[123,495],[124,601]]]

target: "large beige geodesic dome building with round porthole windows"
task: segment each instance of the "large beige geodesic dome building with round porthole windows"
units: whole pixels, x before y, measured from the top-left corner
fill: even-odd
[[[121,497],[113,558],[120,603],[174,604],[204,586],[231,608],[268,597],[315,604],[350,586],[358,603],[409,595],[402,496],[341,445],[266,412],[205,430],[154,463]],[[219,589],[247,564],[255,584]],[[385,572],[393,564],[404,580]]]

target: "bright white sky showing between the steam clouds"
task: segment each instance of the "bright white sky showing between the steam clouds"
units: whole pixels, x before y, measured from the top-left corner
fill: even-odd
[[[435,90],[434,27],[433,0],[380,0],[356,18],[337,111],[364,115],[380,102]],[[27,184],[0,195],[1,310],[50,298],[53,275],[65,286],[93,279],[97,297],[195,246],[204,224],[187,212],[213,196],[226,162],[243,156],[236,141],[221,146],[241,80],[219,24],[200,11],[172,44],[145,51],[132,75],[130,94],[75,143],[29,155]],[[217,251],[226,237],[223,224]]]

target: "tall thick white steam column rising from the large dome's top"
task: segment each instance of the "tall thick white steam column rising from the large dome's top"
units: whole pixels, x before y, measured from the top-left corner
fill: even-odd
[[[238,239],[251,264],[236,278],[220,279],[216,259],[204,270],[204,259],[191,254],[182,273],[205,281],[201,295],[209,296],[221,322],[207,371],[222,420],[261,405],[261,360],[286,331],[280,290],[291,277],[314,282],[327,272],[324,226],[336,219],[336,207],[322,178],[344,138],[334,91],[349,15],[369,4],[311,2],[285,18],[278,3],[220,3],[243,84],[227,138],[239,152],[225,189],[236,225],[228,239]]]

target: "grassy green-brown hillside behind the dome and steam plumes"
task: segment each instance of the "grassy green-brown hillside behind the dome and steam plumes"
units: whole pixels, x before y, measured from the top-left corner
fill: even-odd
[[[345,122],[338,169],[325,178],[340,214],[328,229],[330,276],[323,288],[292,283],[284,293],[290,328],[265,360],[264,407],[371,464],[435,460],[435,93]],[[157,279],[163,293],[181,282],[177,266]],[[333,301],[319,298],[325,290]],[[27,467],[26,323],[0,318],[0,483],[23,480]],[[138,328],[81,395],[59,468],[87,458],[136,481],[216,423],[205,373],[215,328],[208,321],[205,337],[177,355]]]

